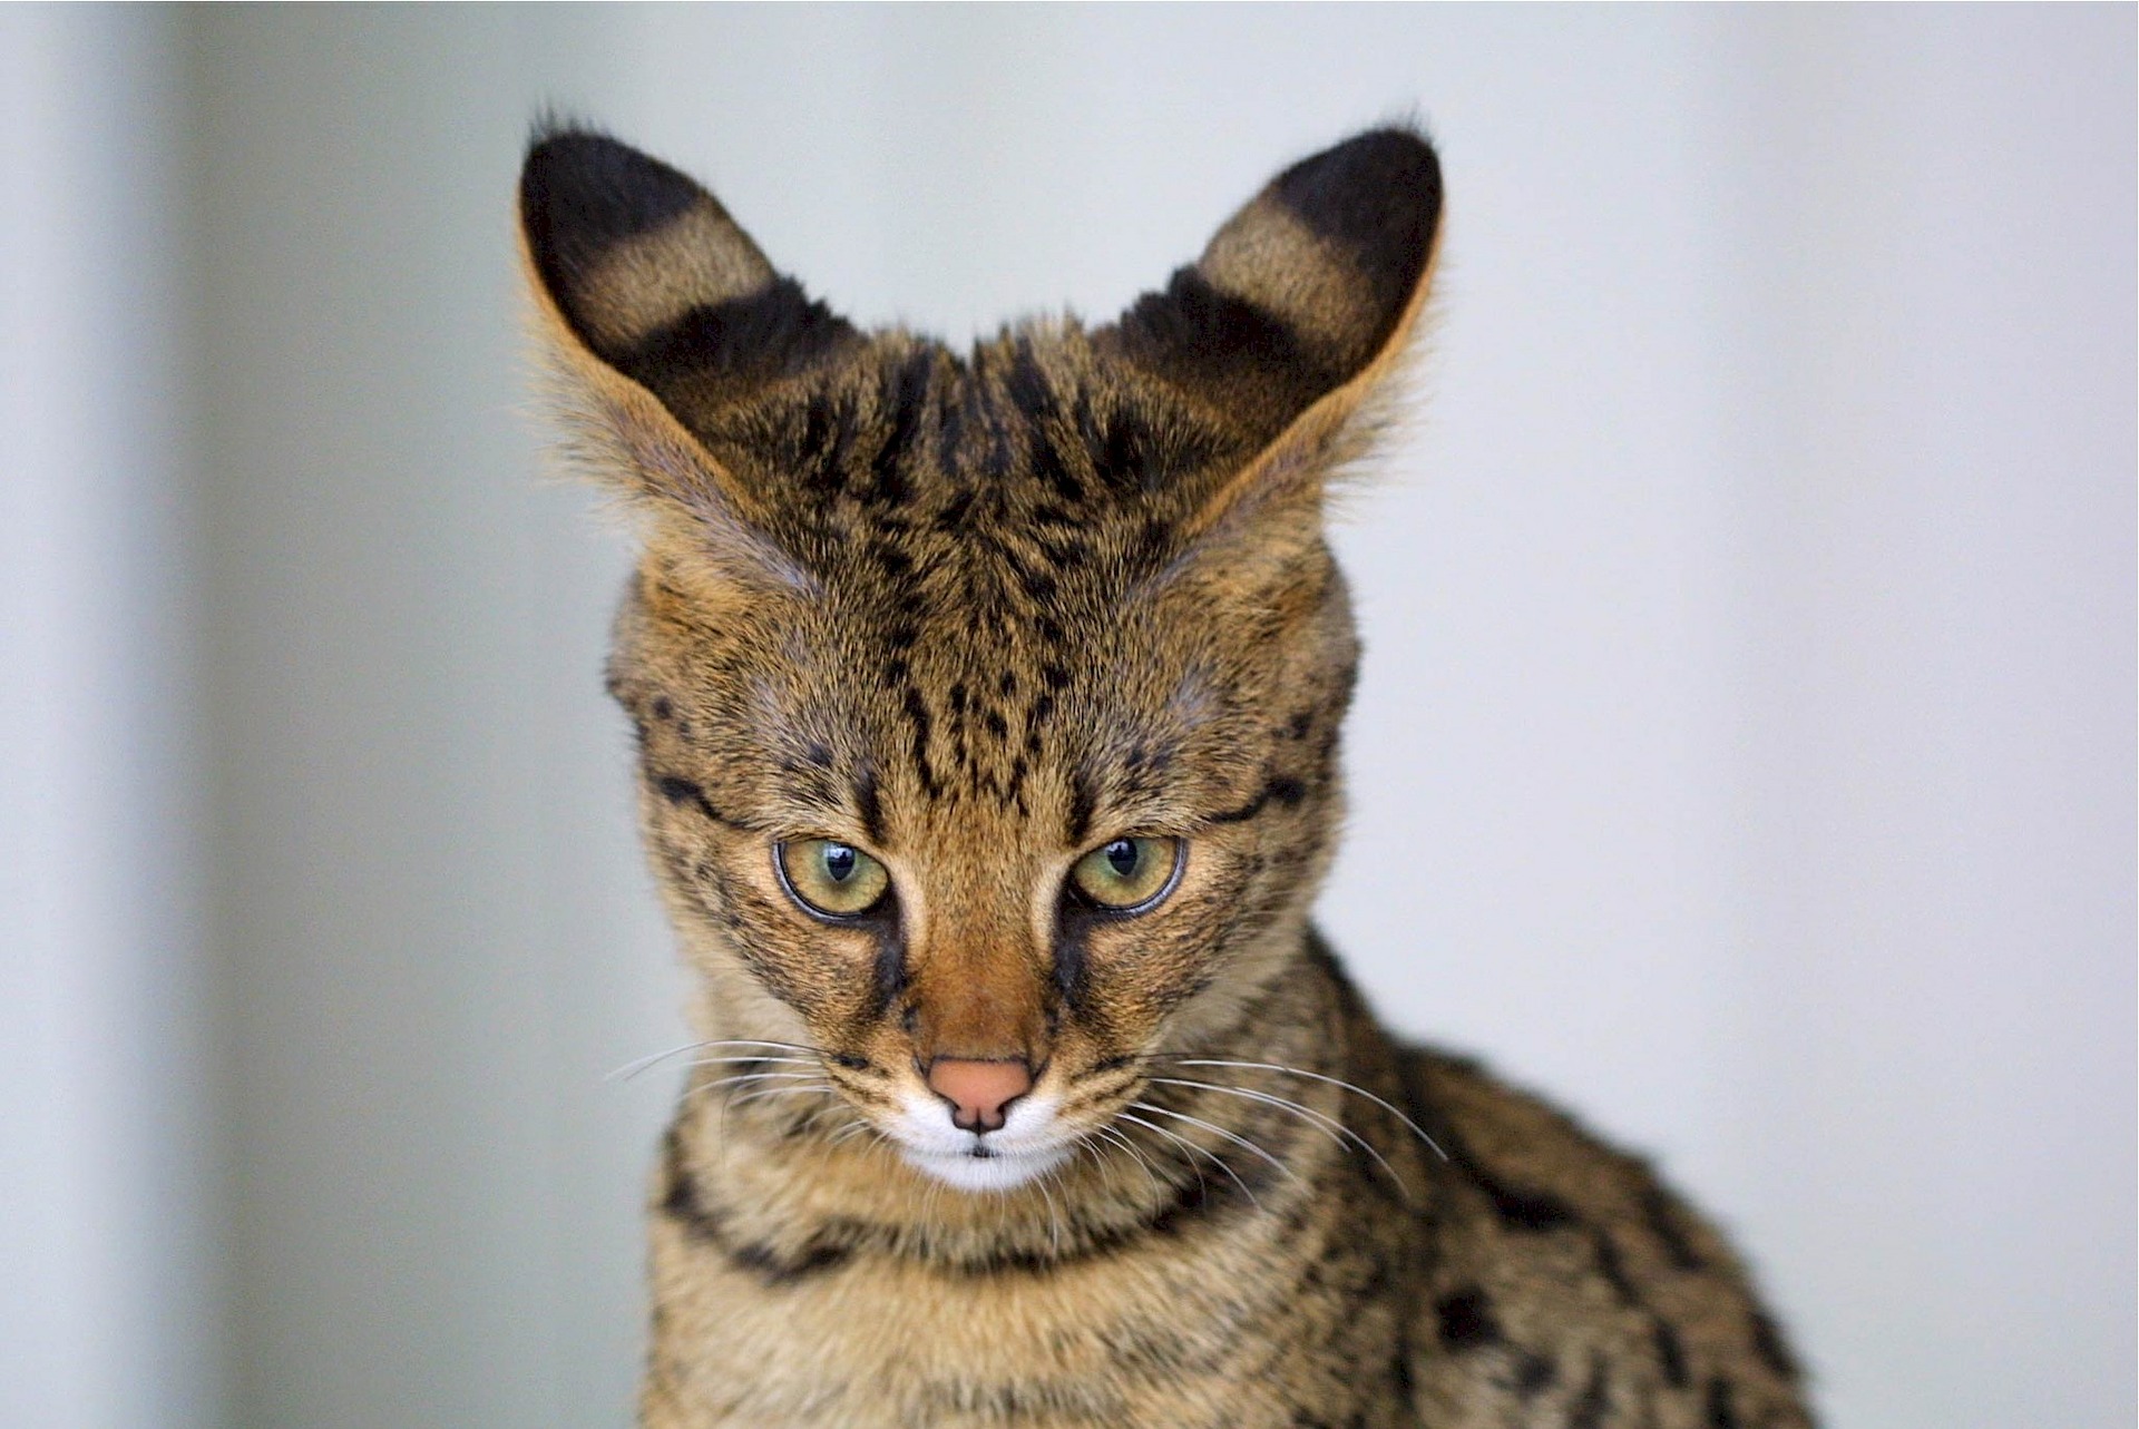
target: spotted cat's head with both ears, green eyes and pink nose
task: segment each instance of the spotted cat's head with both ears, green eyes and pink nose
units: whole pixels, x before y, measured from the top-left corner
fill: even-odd
[[[1356,661],[1324,490],[1433,150],[1358,135],[1117,321],[965,355],[595,133],[537,137],[520,220],[567,449],[646,518],[610,682],[708,1023],[954,1185],[1040,1174],[1298,952]]]

